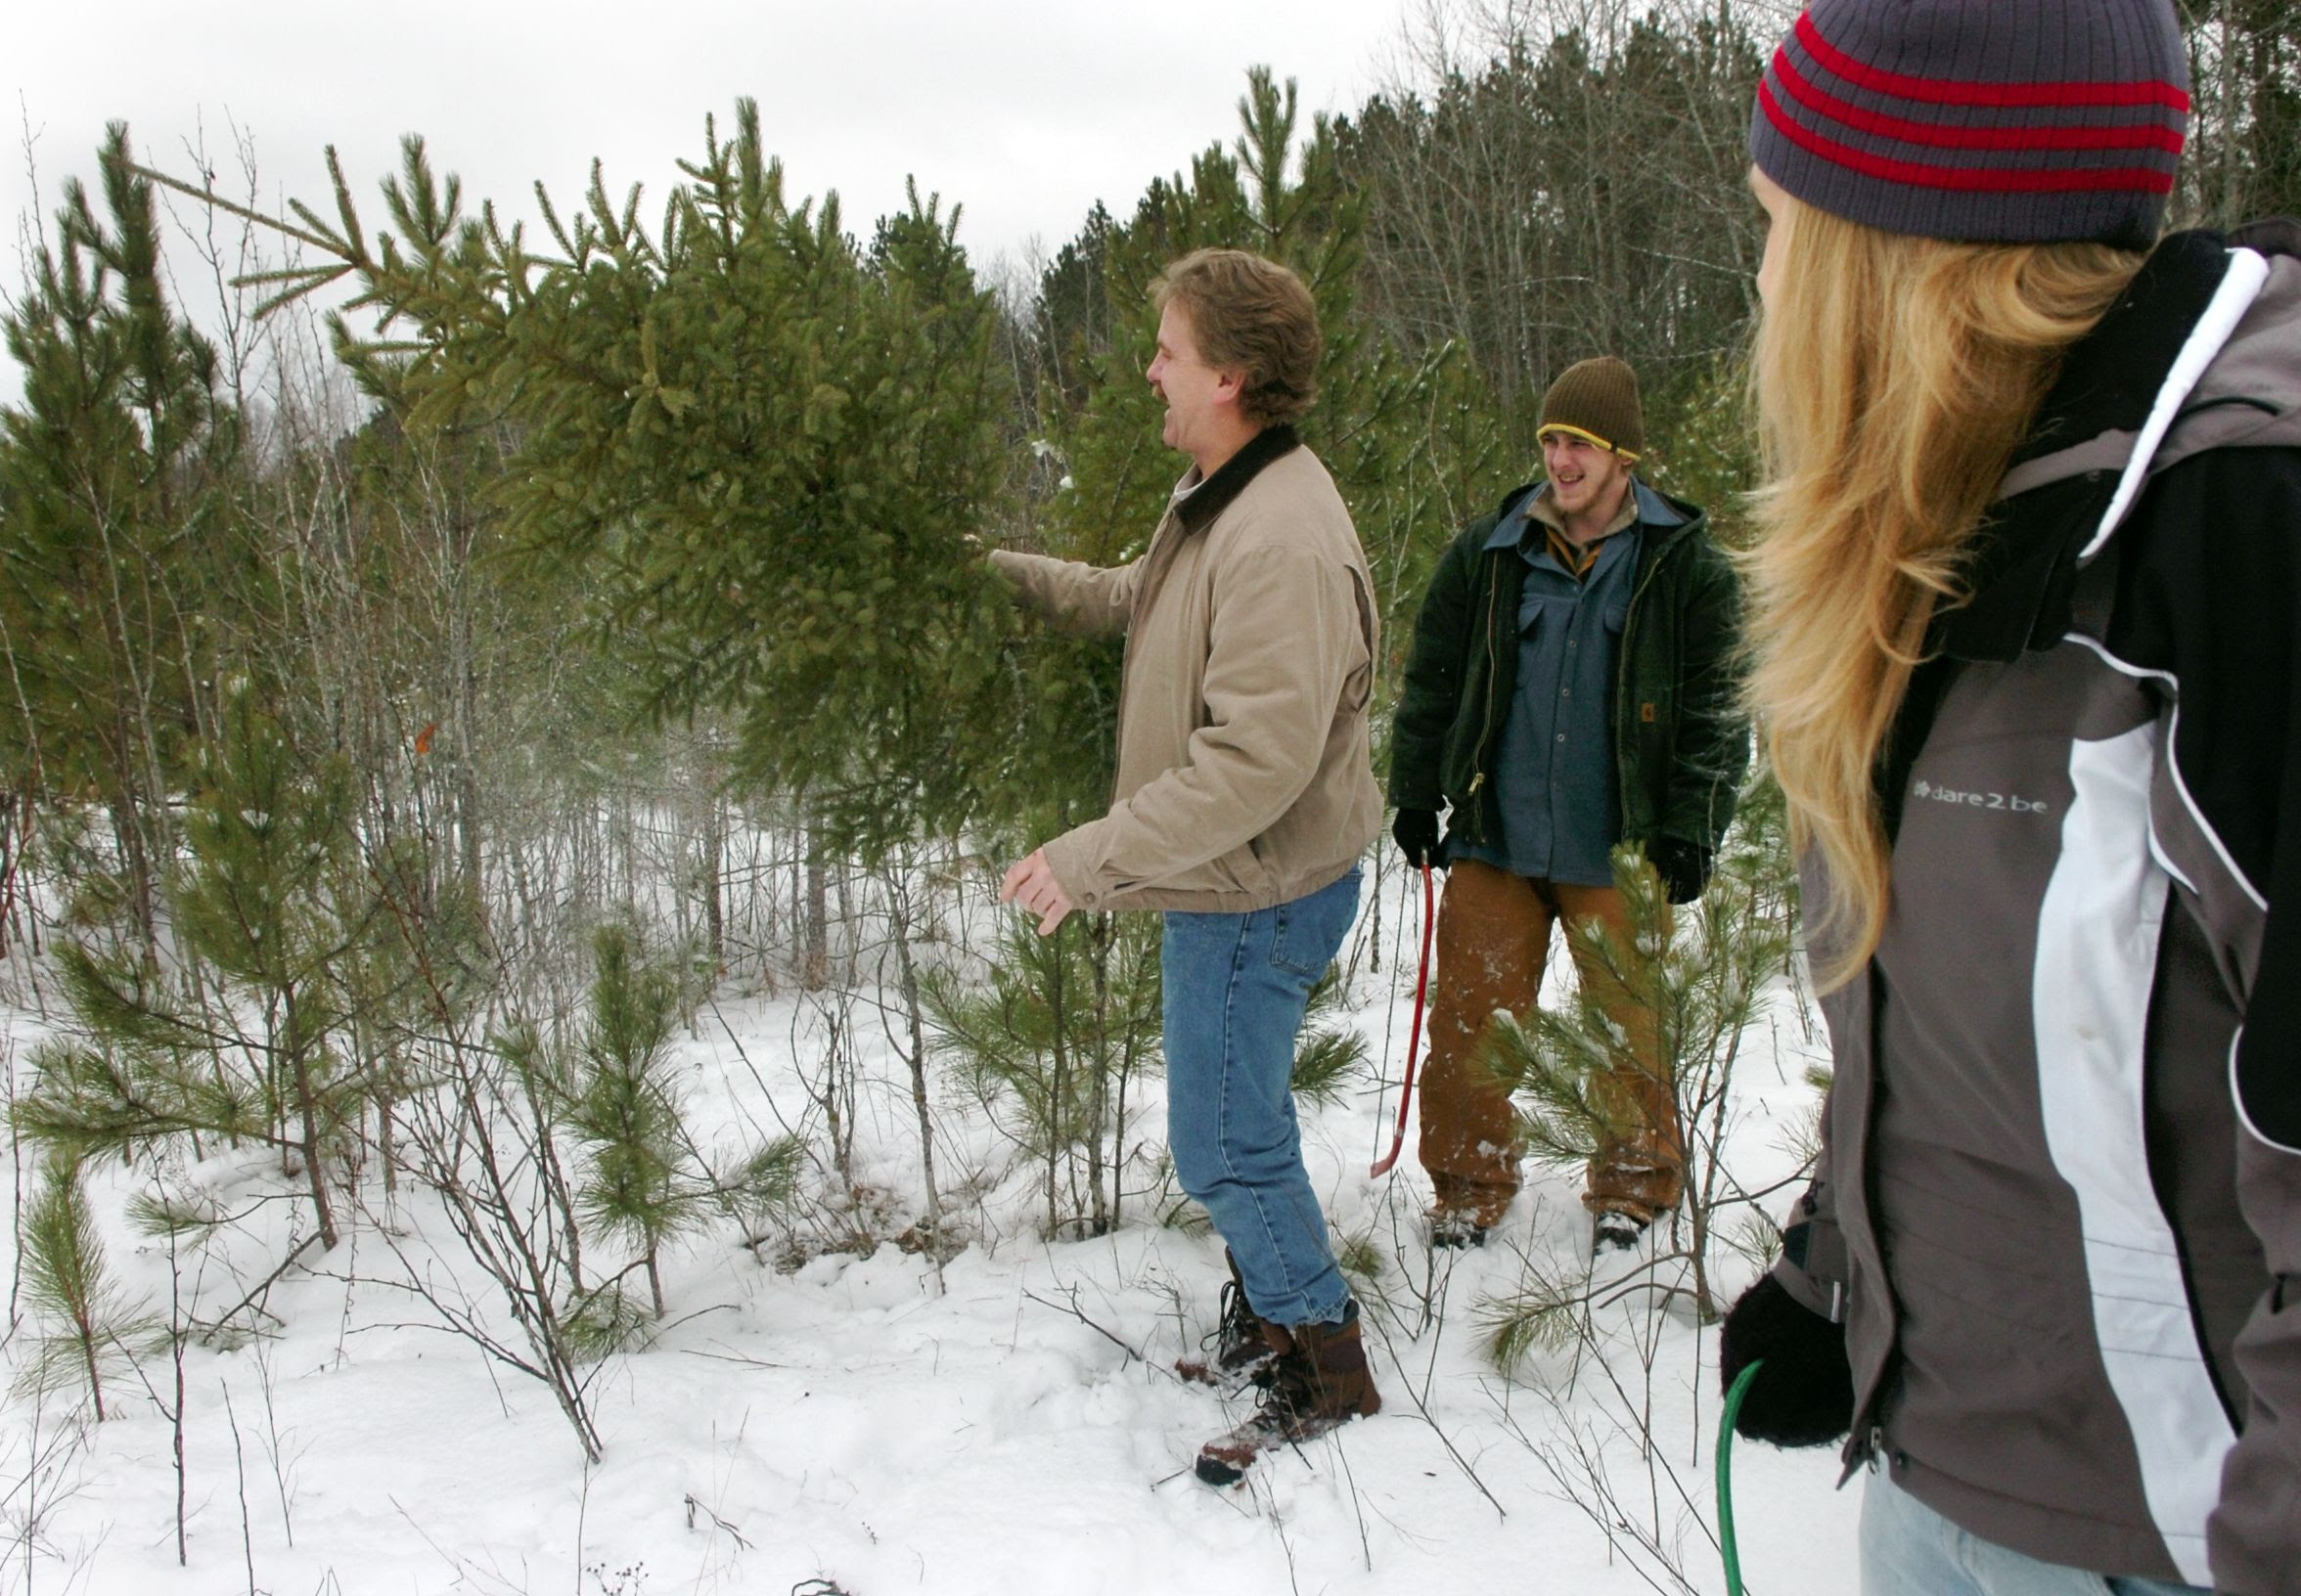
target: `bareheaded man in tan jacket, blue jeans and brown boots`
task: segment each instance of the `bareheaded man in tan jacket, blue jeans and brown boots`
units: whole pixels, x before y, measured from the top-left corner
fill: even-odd
[[[1169,1145],[1236,1276],[1217,1364],[1268,1364],[1261,1412],[1199,1451],[1199,1479],[1229,1483],[1381,1407],[1289,1090],[1381,830],[1376,612],[1351,513],[1291,425],[1316,396],[1309,290],[1259,255],[1197,251],[1153,294],[1148,377],[1192,467],[1150,547],[1116,570],[992,557],[1024,603],[1127,637],[1111,809],[1015,865],[1001,899],[1042,936],[1075,908],[1167,913]]]

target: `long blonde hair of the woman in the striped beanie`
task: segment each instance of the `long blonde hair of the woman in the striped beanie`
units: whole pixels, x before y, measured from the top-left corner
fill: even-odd
[[[1926,628],[1965,598],[1965,554],[2062,352],[2142,258],[1882,232],[1795,198],[1774,228],[1751,373],[1765,485],[1742,557],[1746,697],[1792,846],[1829,881],[1809,906],[1829,989],[1885,931],[1875,780]]]

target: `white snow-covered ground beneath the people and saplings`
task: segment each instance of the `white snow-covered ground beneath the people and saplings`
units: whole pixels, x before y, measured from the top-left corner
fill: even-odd
[[[1390,943],[1404,941],[1397,913],[1385,904]],[[1411,984],[1411,966],[1385,959],[1348,993],[1392,1083]],[[1776,1010],[1740,1074],[1733,1168],[1749,1184],[1795,1166],[1792,1129],[1813,1106],[1813,1044],[1788,998]],[[808,1014],[736,993],[716,1014],[681,1042],[693,1102],[766,1111],[757,1067],[771,1097],[789,1088],[773,1106],[796,1118]],[[23,1072],[41,1026],[5,1021],[0,1046]],[[918,1189],[916,1122],[895,1069],[872,1074],[879,1062],[863,1056],[886,1090],[861,1104],[858,1159],[900,1210]],[[166,1359],[145,1366],[152,1391],[113,1384],[117,1417],[101,1426],[69,1391],[9,1398],[0,1594],[1723,1591],[1710,1539],[1717,1332],[1620,1306],[1585,1343],[1505,1378],[1482,1350],[1482,1315],[1581,1256],[1574,1187],[1537,1173],[1493,1246],[1434,1258],[1411,1148],[1390,1177],[1364,1173],[1394,1102],[1369,1092],[1305,1113],[1330,1217],[1371,1235],[1381,1258],[1362,1288],[1385,1407],[1236,1490],[1201,1486],[1190,1463],[1247,1398],[1174,1375],[1215,1313],[1222,1251],[1208,1235],[1137,1214],[1114,1235],[1049,1244],[1026,1175],[973,1187],[964,1223],[983,1235],[941,1281],[927,1256],[895,1246],[778,1269],[704,1233],[670,1260],[667,1329],[591,1371],[605,1460],[587,1467],[543,1384],[389,1283],[398,1258],[437,1246],[435,1290],[502,1318],[479,1281],[456,1281],[439,1207],[403,1191],[387,1210],[370,1194],[373,1219],[272,1290],[269,1336],[186,1352],[189,1566]],[[1137,1131],[1153,1145],[1162,1111],[1153,1081]],[[937,1115],[946,1184],[996,1175],[1010,1154],[985,1115],[955,1090]],[[189,1177],[251,1212],[198,1265],[205,1276],[186,1274],[214,1311],[283,1256],[299,1182],[255,1152]],[[120,1221],[131,1187],[117,1168],[94,1184],[113,1274],[166,1313],[168,1251]],[[1721,1274],[1730,1299],[1749,1265]],[[18,1325],[14,1366],[39,1329]],[[1859,1488],[1832,1493],[1834,1456],[1742,1447],[1733,1465],[1749,1589],[1850,1591]]]

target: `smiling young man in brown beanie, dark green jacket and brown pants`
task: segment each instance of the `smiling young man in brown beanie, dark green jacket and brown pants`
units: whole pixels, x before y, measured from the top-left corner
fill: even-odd
[[[1537,437],[1549,478],[1438,561],[1392,729],[1392,835],[1411,862],[1450,867],[1420,1138],[1438,1246],[1484,1242],[1519,1191],[1516,1115],[1482,1062],[1489,1019],[1532,1007],[1553,927],[1627,927],[1615,844],[1645,849],[1673,904],[1696,899],[1749,764],[1733,568],[1696,506],[1636,478],[1636,375],[1613,356],[1567,368]],[[1601,1256],[1677,1207],[1684,1138],[1652,1016],[1578,964],[1622,1028],[1608,1085],[1638,1127],[1590,1161]]]

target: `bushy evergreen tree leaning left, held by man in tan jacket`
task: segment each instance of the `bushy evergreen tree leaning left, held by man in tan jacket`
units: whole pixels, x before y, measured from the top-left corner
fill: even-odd
[[[992,297],[934,198],[867,251],[835,198],[792,205],[750,101],[683,170],[656,228],[598,170],[578,212],[538,193],[534,253],[410,138],[391,230],[338,177],[334,221],[285,228],[320,264],[269,281],[357,283],[384,333],[338,315],[338,354],[410,428],[504,428],[506,547],[582,573],[653,715],[732,715],[739,775],[842,851],[950,832],[996,775],[971,729],[1015,626],[971,543],[1003,474]]]

